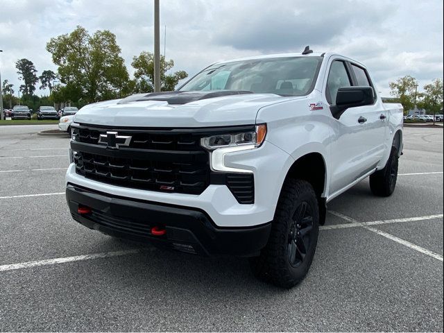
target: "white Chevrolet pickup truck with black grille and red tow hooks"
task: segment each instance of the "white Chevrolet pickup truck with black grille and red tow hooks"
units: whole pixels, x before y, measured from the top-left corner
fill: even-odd
[[[311,265],[327,203],[390,196],[402,106],[334,53],[217,62],[175,92],[87,105],[71,124],[72,217],[114,237],[250,257],[281,287]]]

